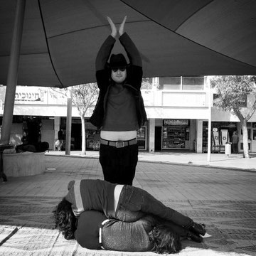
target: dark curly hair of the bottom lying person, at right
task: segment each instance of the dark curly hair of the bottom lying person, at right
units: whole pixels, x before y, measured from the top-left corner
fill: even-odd
[[[181,239],[166,225],[156,225],[149,233],[149,240],[154,243],[152,252],[177,253],[181,250]]]

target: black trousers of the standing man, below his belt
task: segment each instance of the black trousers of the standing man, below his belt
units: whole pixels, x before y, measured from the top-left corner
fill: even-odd
[[[105,181],[132,185],[138,162],[138,144],[116,148],[100,144],[100,164]]]

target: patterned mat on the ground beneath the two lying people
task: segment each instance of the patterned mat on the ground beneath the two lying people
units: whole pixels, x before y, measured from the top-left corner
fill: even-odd
[[[0,255],[155,255],[152,252],[87,250],[53,229],[51,212],[58,197],[0,197]],[[255,201],[163,201],[211,235],[198,244],[184,240],[178,255],[256,255]],[[221,209],[221,211],[220,211]]]

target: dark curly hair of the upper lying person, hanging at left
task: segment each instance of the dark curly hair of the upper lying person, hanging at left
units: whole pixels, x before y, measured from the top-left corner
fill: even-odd
[[[71,203],[65,198],[53,210],[55,228],[58,228],[67,240],[75,239],[76,218],[71,208]]]

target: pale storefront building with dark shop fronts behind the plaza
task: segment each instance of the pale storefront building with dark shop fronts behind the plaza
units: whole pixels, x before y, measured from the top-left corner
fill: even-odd
[[[4,112],[5,87],[0,87],[0,124]],[[243,150],[240,122],[230,112],[209,107],[214,92],[209,90],[207,77],[151,78],[143,86],[142,96],[148,120],[137,132],[139,149],[144,151],[208,150],[208,119],[211,119],[211,150],[223,153],[225,143],[233,132],[240,137],[239,151]],[[50,144],[58,139],[60,128],[65,131],[66,98],[59,97],[50,88],[17,87],[11,143],[21,144],[33,123],[38,123],[38,139]],[[247,99],[250,101],[250,99]],[[247,107],[245,102],[245,107]],[[92,109],[85,117],[86,149],[99,148],[99,131],[90,124]],[[71,150],[80,150],[81,120],[78,110],[72,109]],[[256,114],[248,122],[249,151],[256,152]]]

